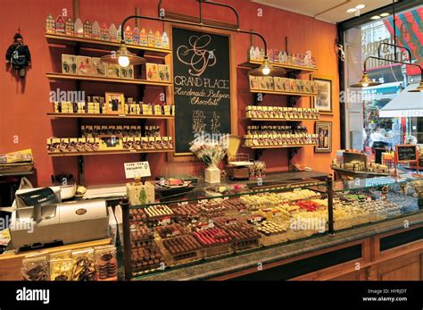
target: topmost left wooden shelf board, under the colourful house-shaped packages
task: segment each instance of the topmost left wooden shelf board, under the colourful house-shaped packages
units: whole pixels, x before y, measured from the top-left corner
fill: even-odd
[[[101,50],[117,50],[120,46],[119,42],[104,41],[94,38],[79,38],[79,37],[70,37],[46,33],[46,39],[48,43],[51,44],[63,44],[67,46],[74,46],[79,44],[81,47],[95,48]],[[171,54],[172,50],[169,48],[157,48],[151,46],[137,46],[135,44],[127,44],[129,49],[132,50],[143,50],[145,51],[145,56],[155,56],[155,57],[164,57],[167,54]]]

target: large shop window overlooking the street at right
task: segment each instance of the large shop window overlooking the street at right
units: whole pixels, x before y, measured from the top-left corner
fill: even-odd
[[[377,56],[381,43],[394,44],[393,15],[344,31],[345,147],[372,152],[402,143],[423,145],[423,100],[408,92],[420,81],[419,68],[370,59],[368,73],[381,85],[349,88],[361,80],[363,62]],[[396,13],[396,44],[411,50],[411,62],[423,66],[423,5]],[[395,53],[396,52],[396,53]],[[409,62],[403,49],[382,46],[382,58]]]

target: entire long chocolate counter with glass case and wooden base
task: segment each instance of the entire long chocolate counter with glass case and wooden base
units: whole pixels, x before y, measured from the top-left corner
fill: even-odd
[[[420,280],[421,183],[278,173],[198,184],[160,204],[124,204],[126,277]]]

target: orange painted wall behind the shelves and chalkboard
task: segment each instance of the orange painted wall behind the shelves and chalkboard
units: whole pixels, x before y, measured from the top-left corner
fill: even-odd
[[[81,18],[83,21],[105,21],[110,24],[119,24],[127,15],[135,12],[137,5],[141,13],[156,16],[157,1],[151,0],[80,0]],[[285,37],[289,39],[289,51],[292,53],[304,53],[310,50],[316,57],[319,72],[317,74],[333,79],[334,113],[330,116],[322,116],[322,121],[333,121],[333,152],[332,154],[314,154],[313,147],[304,147],[294,157],[293,163],[301,163],[311,166],[316,171],[330,172],[329,163],[335,156],[335,151],[340,147],[340,125],[338,105],[338,71],[337,58],[334,51],[336,38],[336,26],[315,21],[311,17],[296,13],[289,13],[268,6],[253,4],[246,0],[227,0],[223,3],[233,5],[240,14],[242,29],[253,29],[260,32],[268,41],[270,48],[285,49]],[[166,10],[185,14],[197,14],[195,0],[165,0],[163,7]],[[12,37],[18,27],[24,41],[29,45],[33,64],[24,84],[15,80],[4,65],[0,71],[0,153],[12,152],[24,148],[32,148],[37,168],[37,180],[39,186],[48,185],[53,173],[78,172],[77,157],[51,158],[46,155],[46,138],[76,137],[77,121],[62,120],[51,121],[46,113],[52,107],[48,103],[49,91],[55,88],[63,90],[74,88],[74,82],[50,83],[46,79],[46,72],[59,71],[61,68],[60,54],[69,53],[71,49],[60,46],[49,46],[46,43],[45,19],[49,13],[56,15],[67,8],[72,15],[71,0],[32,0],[15,1],[3,0],[2,13],[0,13],[0,50],[5,53],[7,47],[12,44]],[[228,11],[211,7],[205,17],[219,21],[234,22],[233,16]],[[258,16],[258,10],[262,9],[262,16]],[[142,22],[145,28],[161,29],[162,24],[155,22]],[[248,48],[251,44],[247,35],[236,34],[236,62],[244,63]],[[253,38],[253,44],[261,42]],[[91,54],[89,54],[91,55]],[[236,70],[237,74],[237,110],[238,132],[243,135],[246,124],[242,119],[245,117],[245,105],[253,103],[253,96],[248,93],[248,81],[246,71]],[[309,75],[303,75],[303,79],[309,79]],[[132,86],[122,87],[119,85],[104,85],[82,83],[88,94],[104,94],[105,91],[121,91],[127,96],[136,96],[137,88]],[[156,101],[160,90],[157,88],[146,89],[145,101]],[[286,105],[284,96],[265,96],[265,104]],[[302,98],[297,106],[308,107],[311,105],[309,98]],[[87,123],[87,121],[85,121]],[[97,123],[88,121],[89,123]],[[99,123],[99,122],[98,122]],[[112,123],[112,122],[108,122]],[[113,123],[121,123],[114,121]],[[160,124],[160,122],[159,122]],[[313,132],[312,121],[305,124],[309,131]],[[164,123],[162,123],[164,127]],[[17,143],[16,137],[18,138]],[[241,150],[248,153],[248,150]],[[287,169],[286,150],[266,150],[262,159],[267,163],[269,171],[283,171]],[[251,153],[251,155],[253,155]],[[86,182],[87,184],[112,183],[124,181],[123,163],[137,161],[138,155],[102,155],[85,157]],[[200,163],[166,163],[165,155],[149,155],[148,160],[152,166],[153,175],[158,173],[200,173],[203,166]]]

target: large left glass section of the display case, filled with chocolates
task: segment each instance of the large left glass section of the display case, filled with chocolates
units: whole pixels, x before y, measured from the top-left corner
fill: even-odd
[[[199,182],[182,196],[131,205],[129,224],[124,222],[130,236],[124,248],[126,273],[143,277],[324,235],[332,209],[327,178]]]

